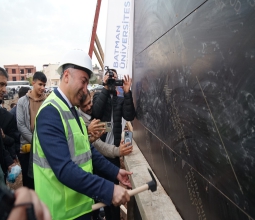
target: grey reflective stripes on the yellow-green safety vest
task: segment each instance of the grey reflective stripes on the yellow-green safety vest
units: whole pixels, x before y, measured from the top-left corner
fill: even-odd
[[[60,110],[65,121],[73,120],[73,119],[76,120],[71,111],[64,111],[55,100],[46,101],[43,103],[43,105],[47,105],[48,103],[51,103],[58,107],[58,109]],[[72,135],[72,130],[71,130],[69,123],[66,123],[66,125],[67,125],[67,130],[68,130],[68,140],[67,141],[68,141],[68,147],[69,147],[69,152],[70,152],[72,161],[77,165],[86,163],[92,157],[91,151],[88,151],[88,152],[85,152],[78,156],[75,156],[75,147],[74,147],[74,139],[73,139],[73,135]],[[39,155],[37,153],[37,149],[33,155],[33,162],[42,168],[50,168],[50,165],[49,165],[47,159],[39,157]]]

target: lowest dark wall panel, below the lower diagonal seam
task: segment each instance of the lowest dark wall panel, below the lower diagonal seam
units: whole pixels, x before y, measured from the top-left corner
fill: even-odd
[[[183,219],[249,219],[139,121],[134,126],[138,146]]]

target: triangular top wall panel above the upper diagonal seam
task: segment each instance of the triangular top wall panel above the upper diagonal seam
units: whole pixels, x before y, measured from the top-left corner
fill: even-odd
[[[135,54],[173,28],[206,0],[135,1]]]

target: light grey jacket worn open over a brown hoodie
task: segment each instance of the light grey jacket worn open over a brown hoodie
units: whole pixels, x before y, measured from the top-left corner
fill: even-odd
[[[32,131],[30,128],[29,97],[21,97],[17,103],[17,125],[20,132],[20,146],[32,143]]]

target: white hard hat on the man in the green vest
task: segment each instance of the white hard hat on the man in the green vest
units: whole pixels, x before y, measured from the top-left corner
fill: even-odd
[[[93,74],[91,58],[83,50],[71,50],[62,57],[57,69],[60,75],[63,73],[63,66],[67,64],[74,65],[74,69],[84,69],[89,77]]]

